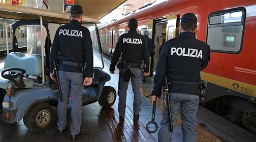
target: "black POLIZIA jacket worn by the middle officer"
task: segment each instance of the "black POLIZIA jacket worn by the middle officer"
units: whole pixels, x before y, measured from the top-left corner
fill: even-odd
[[[110,71],[115,70],[115,65],[119,57],[122,60],[129,60],[131,63],[144,63],[147,65],[145,73],[149,71],[149,52],[145,37],[138,34],[136,30],[130,29],[128,33],[124,33],[119,37],[116,48],[111,60]]]

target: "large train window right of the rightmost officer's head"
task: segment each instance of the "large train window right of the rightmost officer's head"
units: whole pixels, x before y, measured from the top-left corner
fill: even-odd
[[[207,29],[207,44],[211,51],[236,54],[240,52],[244,22],[244,8],[211,13]]]

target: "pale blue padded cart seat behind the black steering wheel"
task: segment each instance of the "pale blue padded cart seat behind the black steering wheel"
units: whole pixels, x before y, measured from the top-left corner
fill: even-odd
[[[9,72],[12,74],[9,74]],[[0,77],[0,88],[7,89],[8,84],[14,84],[16,88],[33,88],[34,81],[24,76],[37,77],[41,75],[41,55],[25,56],[20,52],[11,52],[5,60],[4,70]]]

